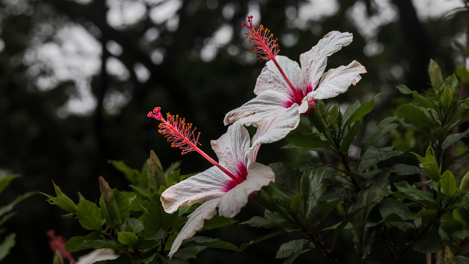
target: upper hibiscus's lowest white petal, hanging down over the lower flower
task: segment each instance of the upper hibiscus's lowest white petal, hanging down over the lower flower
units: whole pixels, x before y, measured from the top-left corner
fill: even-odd
[[[295,103],[284,113],[277,114],[259,123],[256,135],[252,138],[252,147],[250,149],[257,148],[261,143],[272,143],[283,139],[298,126],[299,122],[300,113],[298,112],[298,105]]]

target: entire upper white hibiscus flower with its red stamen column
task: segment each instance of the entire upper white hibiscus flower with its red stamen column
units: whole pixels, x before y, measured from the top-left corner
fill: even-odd
[[[352,42],[352,34],[339,31],[329,32],[310,51],[300,55],[301,68],[297,62],[285,56],[277,56],[278,46],[272,44],[272,35],[267,37],[268,30],[262,25],[250,28],[251,41],[255,42],[254,52],[261,55],[260,59],[268,60],[257,78],[254,93],[256,98],[241,107],[228,112],[224,123],[235,121],[241,124],[258,127],[259,122],[271,119],[265,124],[269,128],[259,137],[253,146],[260,143],[271,143],[284,138],[288,132],[296,128],[300,114],[309,115],[316,106],[317,99],[335,97],[347,91],[348,86],[356,85],[361,79],[365,68],[353,61],[347,66],[340,66],[324,72],[327,57]],[[261,33],[261,34],[259,34]],[[271,43],[269,45],[269,43]],[[314,112],[313,112],[314,113]]]

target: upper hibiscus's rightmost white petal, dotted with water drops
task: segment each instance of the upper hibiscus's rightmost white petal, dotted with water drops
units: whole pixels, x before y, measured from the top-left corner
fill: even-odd
[[[347,91],[348,86],[356,85],[362,78],[360,73],[366,73],[365,67],[357,61],[350,62],[347,66],[340,66],[324,73],[318,89],[308,94],[316,99],[326,99],[337,96]]]

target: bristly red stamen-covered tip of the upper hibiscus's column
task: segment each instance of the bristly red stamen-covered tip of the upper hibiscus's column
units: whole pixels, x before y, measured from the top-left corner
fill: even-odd
[[[251,51],[259,55],[259,60],[272,61],[280,51],[279,44],[276,43],[278,39],[273,39],[273,34],[269,34],[270,30],[265,29],[263,25],[257,24],[257,27],[254,27],[252,16],[248,16],[248,23],[249,26],[244,21],[241,24],[252,31],[246,33],[250,43],[254,42]]]

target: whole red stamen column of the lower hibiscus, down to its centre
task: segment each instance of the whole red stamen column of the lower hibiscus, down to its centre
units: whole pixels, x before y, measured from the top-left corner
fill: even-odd
[[[172,116],[169,113],[166,114],[166,120],[161,115],[161,108],[157,107],[153,109],[153,113],[148,113],[148,116],[153,117],[161,121],[159,124],[160,132],[168,142],[171,142],[171,147],[179,147],[182,149],[181,155],[188,153],[190,151],[197,151],[204,158],[210,161],[213,165],[217,166],[221,171],[225,172],[231,179],[234,179],[237,183],[242,183],[242,180],[234,176],[233,173],[229,172],[218,162],[214,161],[211,157],[205,154],[200,148],[197,147],[197,144],[201,146],[198,142],[200,132],[197,133],[197,138],[194,134],[194,131],[197,128],[192,129],[192,124],[187,124],[185,118],[180,118],[179,116]]]

